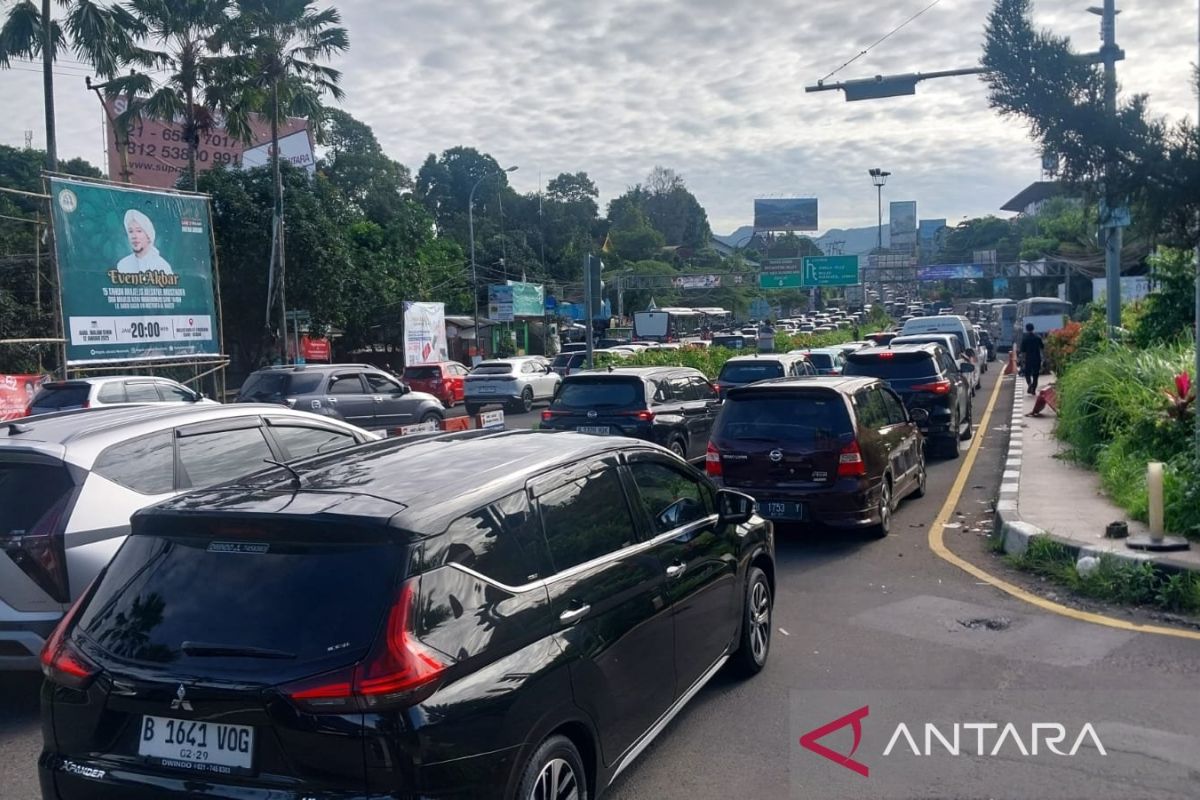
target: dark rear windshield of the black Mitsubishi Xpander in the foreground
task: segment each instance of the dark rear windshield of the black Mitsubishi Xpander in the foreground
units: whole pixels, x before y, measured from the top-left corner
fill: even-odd
[[[118,658],[233,669],[289,670],[361,651],[394,600],[403,551],[341,533],[289,537],[232,525],[224,536],[130,536],[79,631]],[[277,655],[222,655],[242,648]]]

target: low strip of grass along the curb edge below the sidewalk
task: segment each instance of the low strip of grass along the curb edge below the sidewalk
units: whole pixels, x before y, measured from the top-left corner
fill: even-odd
[[[1021,555],[1006,559],[1031,572],[1093,600],[1124,606],[1150,606],[1166,612],[1200,613],[1200,578],[1192,572],[1165,573],[1151,561],[1132,563],[1108,553],[1081,575],[1075,557],[1049,536],[1033,536]]]

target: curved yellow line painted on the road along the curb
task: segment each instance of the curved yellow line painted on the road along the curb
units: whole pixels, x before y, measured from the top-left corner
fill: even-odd
[[[998,578],[990,572],[959,558],[946,547],[943,539],[946,523],[949,522],[950,515],[959,505],[959,499],[962,497],[962,488],[967,483],[967,479],[971,476],[971,468],[974,467],[976,457],[979,455],[979,449],[983,445],[984,437],[988,431],[988,423],[991,421],[991,413],[996,408],[996,401],[1000,398],[1000,392],[1004,386],[1004,377],[1001,375],[996,380],[996,387],[991,392],[991,398],[988,401],[988,409],[983,414],[983,419],[979,421],[979,427],[976,429],[974,440],[971,443],[971,449],[967,451],[966,457],[962,459],[962,467],[959,468],[959,475],[954,480],[954,486],[950,487],[950,494],[946,498],[946,504],[942,510],[937,512],[937,517],[934,519],[932,525],[929,528],[929,547],[940,558],[949,561],[954,566],[959,567],[964,572],[983,581],[988,585],[995,587],[1003,593],[1016,597],[1018,600],[1024,600],[1027,603],[1037,606],[1043,610],[1048,610],[1051,614],[1058,614],[1061,616],[1068,616],[1073,620],[1080,622],[1092,622],[1094,625],[1104,625],[1106,627],[1115,627],[1121,631],[1133,631],[1136,633],[1157,633],[1159,636],[1174,636],[1181,639],[1194,639],[1200,640],[1200,631],[1186,631],[1174,627],[1163,627],[1160,625],[1139,625],[1138,622],[1130,622],[1123,619],[1115,619],[1112,616],[1105,616],[1104,614],[1094,614],[1092,612],[1082,612],[1076,608],[1070,608],[1068,606],[1062,606],[1056,602],[1051,602],[1045,597],[1039,597],[1033,593],[1026,591],[1020,587],[1008,583],[1003,578]],[[1009,384],[1010,386],[1010,384]],[[1012,389],[1009,389],[1012,391]]]

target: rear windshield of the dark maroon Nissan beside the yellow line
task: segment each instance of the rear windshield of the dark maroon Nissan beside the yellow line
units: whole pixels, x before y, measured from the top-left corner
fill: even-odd
[[[784,441],[833,447],[853,433],[846,403],[834,392],[751,391],[732,395],[716,421],[722,441]]]

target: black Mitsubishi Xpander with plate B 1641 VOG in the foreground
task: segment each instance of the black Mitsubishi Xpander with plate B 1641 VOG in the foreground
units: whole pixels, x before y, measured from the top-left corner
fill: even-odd
[[[653,445],[468,432],[293,470],[137,515],[46,651],[55,798],[594,796],[768,660],[772,527]]]

